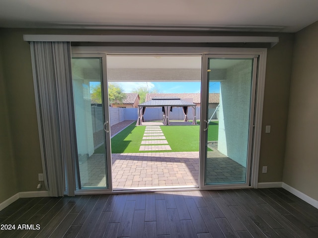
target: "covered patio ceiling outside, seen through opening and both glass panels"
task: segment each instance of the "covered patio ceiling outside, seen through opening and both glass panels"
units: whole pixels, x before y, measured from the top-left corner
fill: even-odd
[[[216,80],[220,81],[227,68],[243,60],[250,59],[211,59]],[[251,61],[252,62],[252,61]],[[108,55],[108,82],[177,82],[201,81],[201,56],[119,56]],[[251,65],[251,63],[250,63]],[[100,81],[100,59],[73,58],[73,78]],[[212,79],[210,79],[212,81]]]

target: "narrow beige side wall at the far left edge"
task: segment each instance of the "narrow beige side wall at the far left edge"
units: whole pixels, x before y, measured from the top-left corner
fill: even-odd
[[[0,33],[0,203],[16,194],[16,164],[12,152],[10,122],[7,108],[7,90],[3,76],[2,49]]]

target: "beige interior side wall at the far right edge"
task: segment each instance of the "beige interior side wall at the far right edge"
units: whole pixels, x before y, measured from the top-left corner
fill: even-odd
[[[318,22],[296,34],[283,182],[318,200]]]

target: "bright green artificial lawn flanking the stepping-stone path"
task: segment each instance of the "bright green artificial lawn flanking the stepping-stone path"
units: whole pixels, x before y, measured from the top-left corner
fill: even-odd
[[[199,124],[199,122],[198,122]],[[218,121],[210,121],[208,140],[218,140]],[[132,123],[111,139],[111,152],[119,153],[147,153],[139,151],[146,126],[136,126]],[[199,125],[170,125],[160,126],[171,150],[156,152],[191,152],[199,151]],[[210,151],[210,149],[208,148]],[[95,150],[96,154],[105,153],[104,145]]]

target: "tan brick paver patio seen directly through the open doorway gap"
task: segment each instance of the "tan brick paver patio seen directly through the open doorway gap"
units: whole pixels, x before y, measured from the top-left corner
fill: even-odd
[[[198,186],[198,152],[112,154],[114,188]]]

